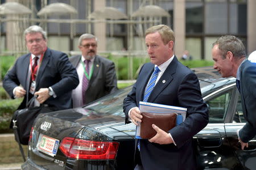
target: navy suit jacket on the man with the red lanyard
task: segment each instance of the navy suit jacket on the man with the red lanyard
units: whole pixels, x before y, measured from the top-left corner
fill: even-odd
[[[18,85],[22,85],[26,92],[29,92],[30,56],[31,53],[28,53],[19,57],[3,79],[3,88],[11,98],[14,98],[13,89]],[[54,107],[55,110],[71,108],[71,92],[78,84],[76,69],[69,62],[68,56],[63,52],[47,48],[36,76],[35,92],[40,88],[51,86],[57,97],[49,97],[44,103]],[[23,109],[26,102],[25,96],[18,109]]]

